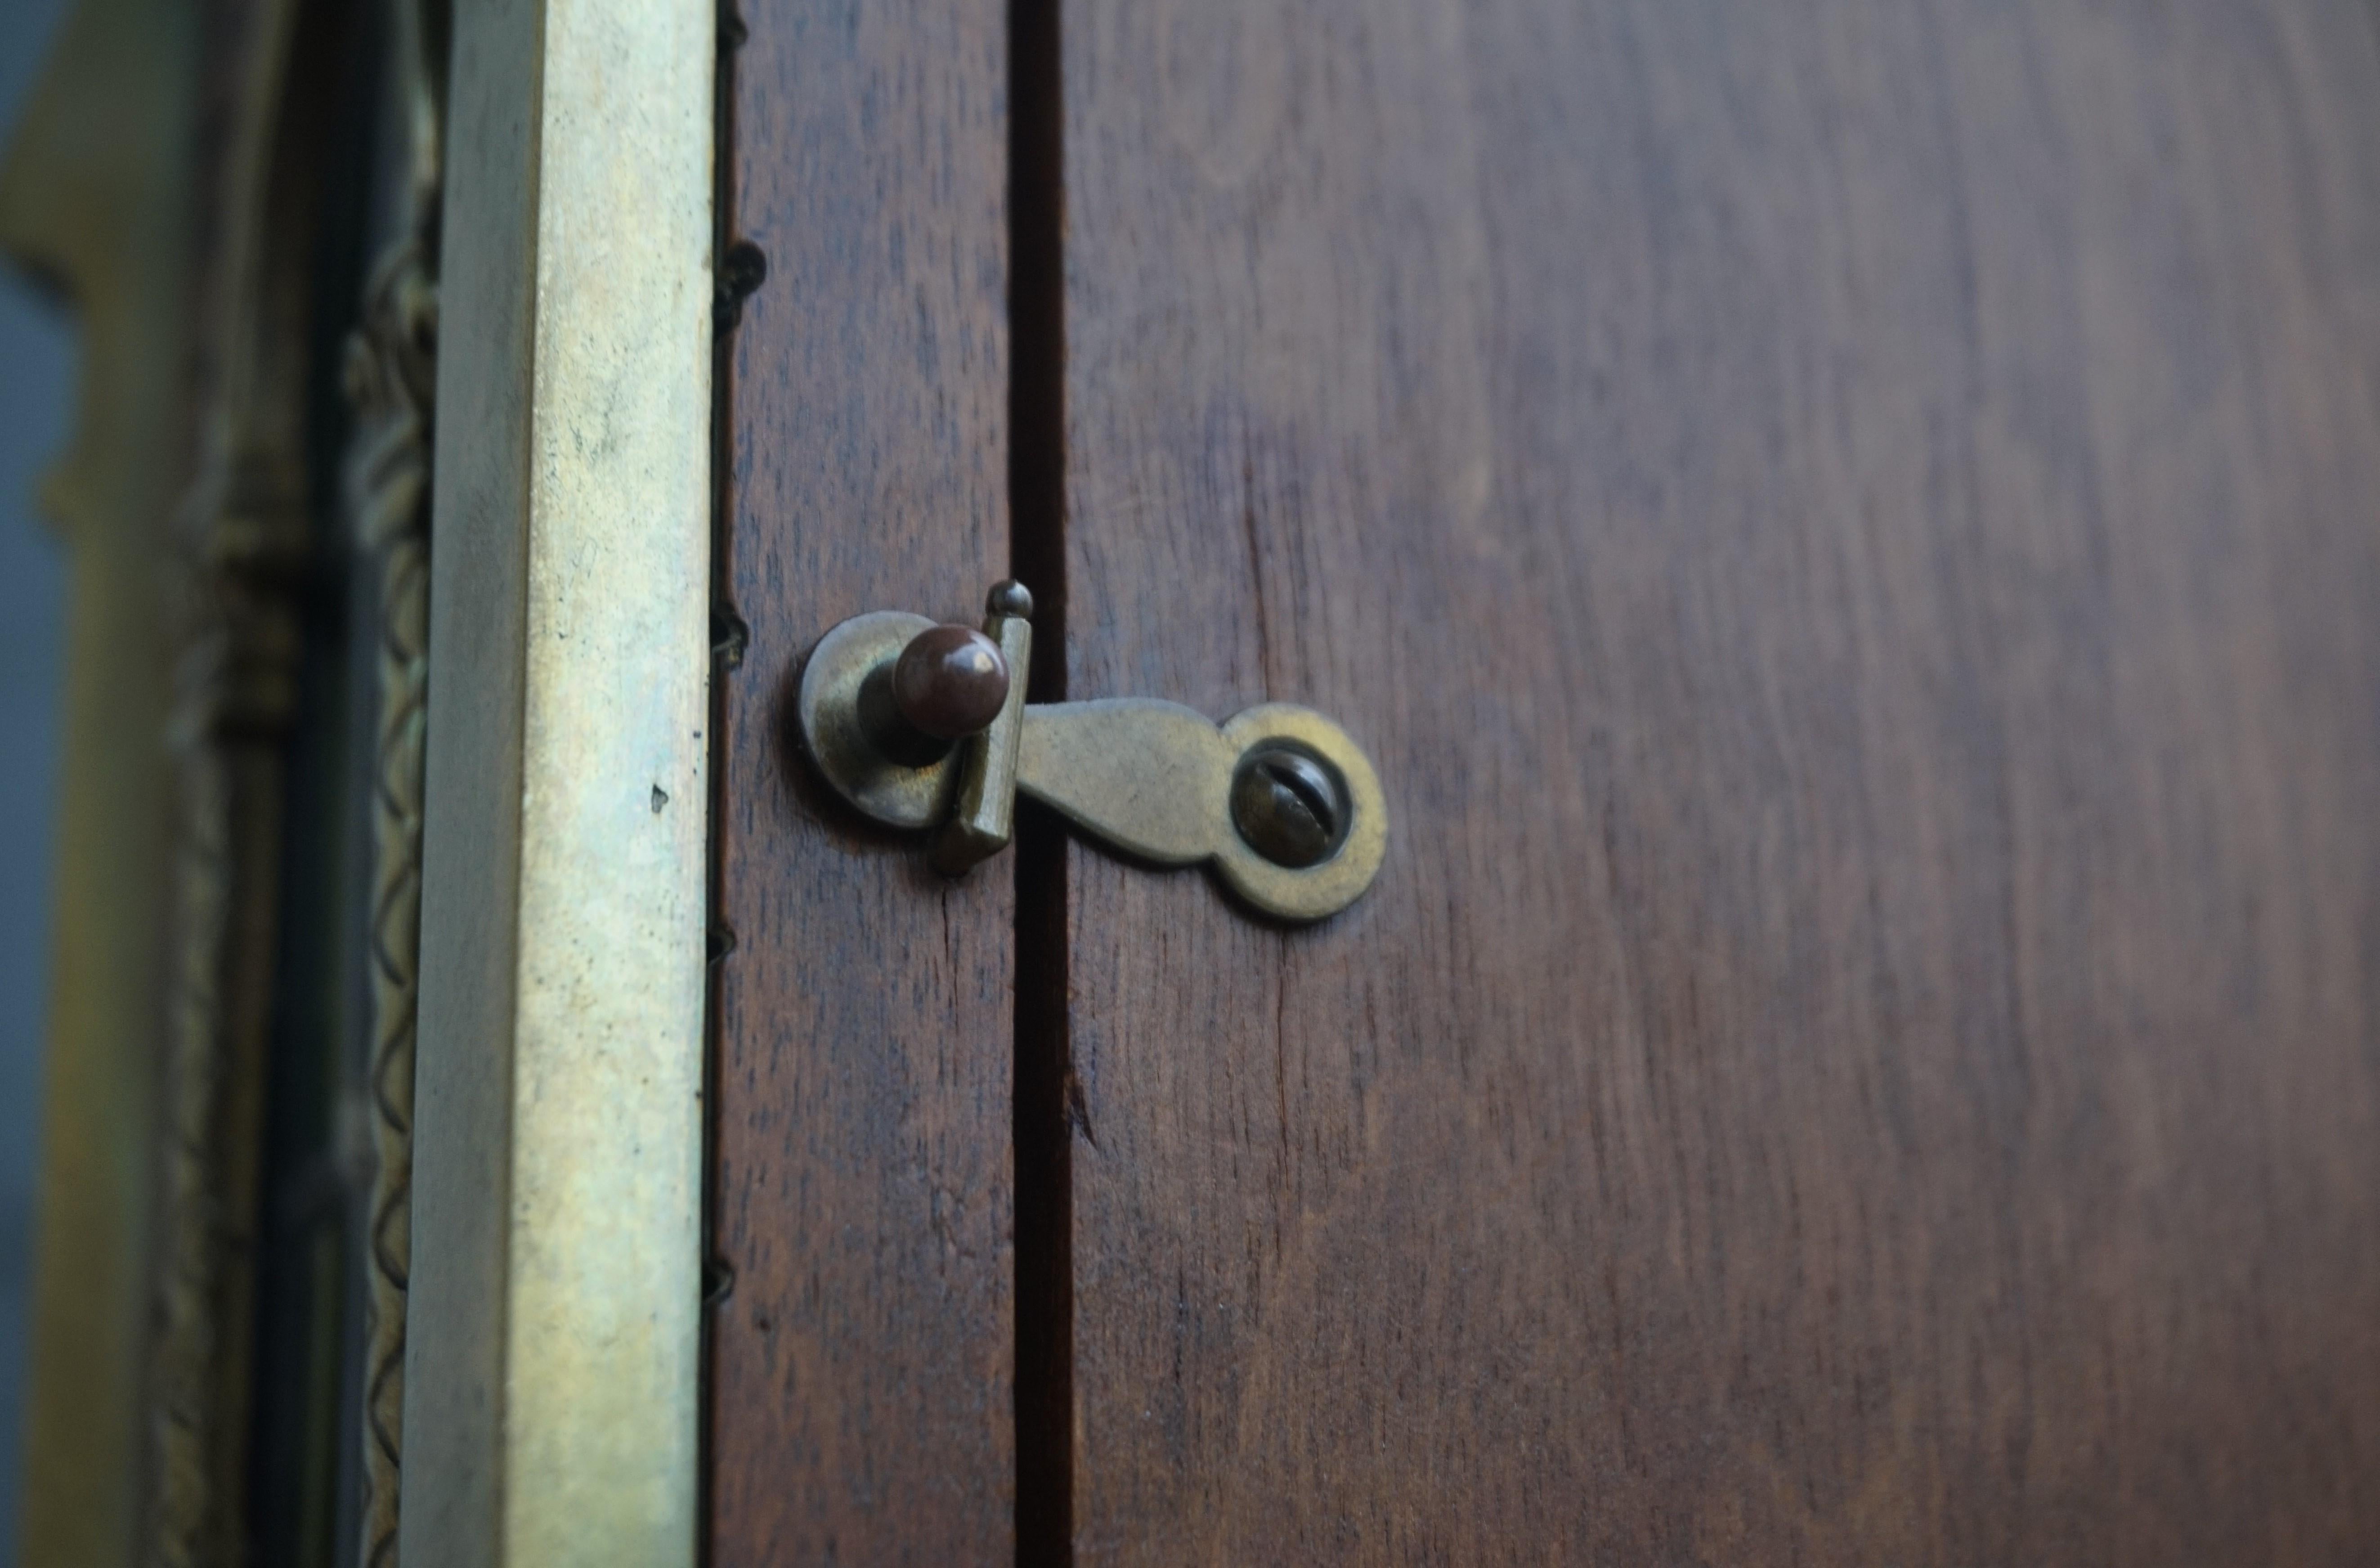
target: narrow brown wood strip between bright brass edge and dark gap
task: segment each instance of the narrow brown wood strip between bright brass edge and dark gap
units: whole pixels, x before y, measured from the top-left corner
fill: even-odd
[[[740,29],[726,238],[766,281],[724,312],[709,1561],[1004,1561],[1012,868],[931,876],[788,728],[828,626],[971,621],[1007,573],[1004,29]]]

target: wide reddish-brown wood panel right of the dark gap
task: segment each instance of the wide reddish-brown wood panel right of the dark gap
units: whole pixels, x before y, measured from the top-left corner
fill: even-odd
[[[1073,1556],[2380,1561],[2373,7],[1083,0],[1064,100],[1066,692],[1395,814],[1295,933],[1066,849]]]

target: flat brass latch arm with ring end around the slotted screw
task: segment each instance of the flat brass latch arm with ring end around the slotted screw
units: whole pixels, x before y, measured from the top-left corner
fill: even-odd
[[[1230,821],[1233,771],[1264,742],[1319,757],[1347,788],[1345,838],[1314,866],[1276,866]],[[1233,892],[1285,921],[1319,921],[1357,902],[1388,854],[1388,797],[1364,747],[1288,702],[1252,707],[1221,728],[1197,709],[1145,697],[1035,704],[1026,709],[1016,788],[1135,859],[1214,861]]]

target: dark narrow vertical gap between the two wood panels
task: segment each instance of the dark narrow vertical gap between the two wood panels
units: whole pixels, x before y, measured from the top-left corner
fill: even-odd
[[[1066,274],[1059,0],[1009,0],[1009,573],[1035,702],[1066,697]],[[1066,835],[1016,821],[1016,1561],[1073,1561],[1073,1161]]]

